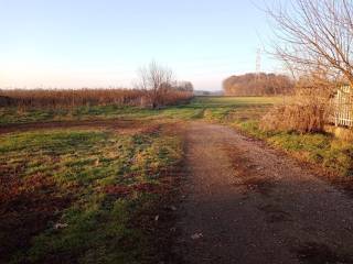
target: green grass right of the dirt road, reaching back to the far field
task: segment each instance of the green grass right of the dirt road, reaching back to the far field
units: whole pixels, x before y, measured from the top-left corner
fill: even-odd
[[[190,106],[203,109],[202,119],[232,125],[290,155],[342,176],[353,176],[353,145],[331,134],[293,132],[264,132],[259,121],[281,98],[199,98]]]

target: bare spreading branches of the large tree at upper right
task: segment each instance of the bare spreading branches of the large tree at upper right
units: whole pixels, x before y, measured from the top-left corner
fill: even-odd
[[[295,76],[353,85],[351,0],[277,1],[267,13],[275,22],[275,55]]]

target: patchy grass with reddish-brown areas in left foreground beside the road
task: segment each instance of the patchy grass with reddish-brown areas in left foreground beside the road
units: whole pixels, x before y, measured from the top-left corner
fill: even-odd
[[[181,140],[160,131],[2,135],[0,262],[151,260],[151,231],[139,219],[169,191],[181,156]]]

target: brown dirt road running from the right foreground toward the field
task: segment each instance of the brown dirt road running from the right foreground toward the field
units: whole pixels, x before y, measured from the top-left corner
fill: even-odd
[[[188,129],[183,263],[353,263],[353,200],[234,130]]]

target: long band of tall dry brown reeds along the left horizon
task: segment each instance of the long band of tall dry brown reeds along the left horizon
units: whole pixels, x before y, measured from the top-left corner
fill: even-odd
[[[0,90],[0,107],[71,108],[79,106],[149,107],[149,90],[139,89],[11,89]],[[163,94],[164,106],[192,97],[191,92],[169,90]]]

